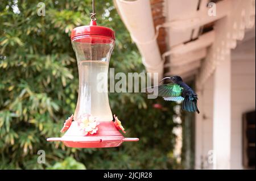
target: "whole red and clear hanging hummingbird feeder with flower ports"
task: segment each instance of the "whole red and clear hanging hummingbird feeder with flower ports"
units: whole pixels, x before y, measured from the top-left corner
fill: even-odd
[[[76,27],[71,32],[72,47],[79,69],[79,95],[74,115],[64,123],[63,137],[47,141],[62,141],[73,148],[115,147],[125,141],[121,121],[114,115],[108,98],[108,67],[114,48],[115,33],[110,28],[97,26],[94,13],[89,26]],[[101,79],[99,78],[101,77]]]

